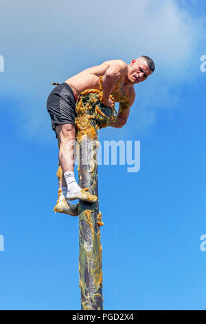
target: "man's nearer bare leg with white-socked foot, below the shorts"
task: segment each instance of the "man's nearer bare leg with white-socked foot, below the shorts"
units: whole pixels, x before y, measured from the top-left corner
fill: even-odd
[[[75,125],[57,125],[55,131],[60,139],[58,158],[62,167],[63,176],[67,183],[67,199],[70,201],[80,199],[92,203],[95,202],[98,197],[80,188],[74,177],[74,148],[76,143]]]

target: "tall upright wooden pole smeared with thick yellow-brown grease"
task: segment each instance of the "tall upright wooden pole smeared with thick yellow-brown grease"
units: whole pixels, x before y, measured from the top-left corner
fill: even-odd
[[[100,102],[100,91],[82,92],[76,104],[78,172],[80,188],[98,196],[98,129],[113,119],[113,109]],[[103,310],[101,212],[99,201],[80,201],[80,289],[82,310]]]

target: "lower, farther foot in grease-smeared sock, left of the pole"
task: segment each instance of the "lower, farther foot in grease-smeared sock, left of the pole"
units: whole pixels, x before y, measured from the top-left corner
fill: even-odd
[[[58,201],[54,207],[54,212],[62,212],[71,216],[78,216],[78,206],[78,203],[76,205],[69,203],[66,194],[63,193],[61,189],[58,190]]]

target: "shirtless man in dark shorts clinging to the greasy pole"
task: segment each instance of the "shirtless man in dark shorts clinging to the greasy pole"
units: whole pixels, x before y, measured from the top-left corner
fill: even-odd
[[[67,79],[64,83],[57,85],[49,94],[47,99],[47,110],[52,120],[52,129],[56,132],[59,143],[59,162],[62,167],[63,177],[59,181],[60,196],[58,203],[67,203],[64,212],[76,216],[77,207],[71,205],[69,201],[80,199],[91,201],[89,193],[84,192],[76,183],[74,178],[73,152],[76,139],[76,100],[78,95],[86,89],[100,90],[100,76],[103,77],[103,99],[102,103],[111,107],[112,101],[110,94],[113,95],[116,102],[119,102],[119,111],[117,117],[110,126],[122,128],[126,124],[130,113],[130,107],[135,101],[134,85],[145,81],[155,70],[155,64],[149,57],[141,56],[133,59],[130,64],[122,60],[105,61],[100,65],[93,66]],[[121,79],[121,85],[118,91],[115,91],[115,84]],[[72,162],[71,162],[72,161]],[[92,202],[97,197],[93,196]],[[56,210],[58,210],[58,203]],[[62,208],[61,208],[62,212]]]

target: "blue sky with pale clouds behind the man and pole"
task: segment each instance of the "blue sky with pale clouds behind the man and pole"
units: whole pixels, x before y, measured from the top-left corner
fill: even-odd
[[[155,73],[135,85],[124,128],[99,133],[141,142],[139,172],[99,166],[104,309],[205,310],[206,6],[142,2],[1,6],[1,310],[80,309],[78,218],[53,212],[58,147],[45,103],[51,82],[141,54]]]

